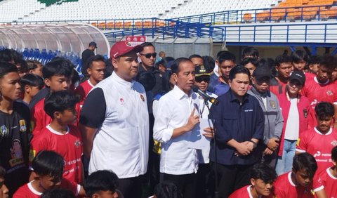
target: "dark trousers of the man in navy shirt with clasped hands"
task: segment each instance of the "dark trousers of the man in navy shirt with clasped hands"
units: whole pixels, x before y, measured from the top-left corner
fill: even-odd
[[[250,184],[251,165],[217,164],[218,197],[227,198],[235,190]],[[212,163],[214,169],[214,163]]]

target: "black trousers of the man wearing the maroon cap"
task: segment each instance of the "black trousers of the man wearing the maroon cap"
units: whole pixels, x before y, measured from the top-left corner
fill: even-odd
[[[143,180],[143,176],[119,179],[118,190],[121,191],[121,194],[123,194],[124,198],[142,197]]]

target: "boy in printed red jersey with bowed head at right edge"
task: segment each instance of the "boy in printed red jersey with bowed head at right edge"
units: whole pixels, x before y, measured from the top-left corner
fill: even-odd
[[[317,174],[329,168],[331,149],[337,145],[337,130],[331,127],[333,121],[333,105],[318,103],[315,107],[317,126],[300,134],[296,154],[308,152],[317,161]]]

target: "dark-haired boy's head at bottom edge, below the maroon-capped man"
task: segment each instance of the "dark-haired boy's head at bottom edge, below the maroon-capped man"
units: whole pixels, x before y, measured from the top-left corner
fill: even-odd
[[[84,182],[84,190],[89,198],[122,197],[117,190],[118,177],[112,171],[95,171]]]

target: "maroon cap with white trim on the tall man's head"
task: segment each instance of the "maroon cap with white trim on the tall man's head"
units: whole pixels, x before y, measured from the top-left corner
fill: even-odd
[[[136,53],[138,53],[143,51],[143,47],[140,45],[131,46],[130,42],[128,41],[118,41],[110,49],[110,58],[117,58],[131,51],[136,51]]]

